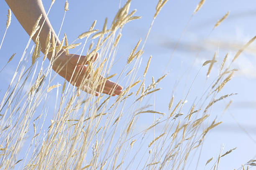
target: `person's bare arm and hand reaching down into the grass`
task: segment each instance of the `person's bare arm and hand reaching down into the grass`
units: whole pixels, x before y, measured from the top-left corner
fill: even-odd
[[[13,14],[20,22],[20,25],[26,30],[28,35],[31,35],[33,25],[36,23],[38,17],[42,14],[42,18],[39,22],[39,25],[43,25],[39,34],[39,41],[41,42],[41,51],[44,53],[46,49],[46,38],[51,30],[52,35],[56,40],[56,45],[60,45],[60,41],[54,32],[54,29],[51,26],[49,19],[46,16],[46,12],[44,10],[44,6],[41,0],[5,0],[10,9],[12,10]],[[39,29],[40,30],[40,29]],[[36,34],[32,37],[32,40],[36,42],[36,37],[38,35],[39,30]],[[94,55],[92,58],[92,62],[94,62],[97,57],[98,53]],[[51,61],[51,53],[47,55],[47,58]],[[77,54],[66,54],[65,50],[61,50],[58,53],[58,57],[54,60],[52,69],[57,72],[61,77],[64,77],[68,82],[76,87],[81,88],[83,91],[94,94],[98,96],[100,92],[105,94],[111,95],[119,95],[122,92],[123,87],[118,85],[115,82],[110,80],[105,81],[105,85],[102,88],[102,85],[98,85],[96,87],[96,91],[92,91],[90,87],[86,85],[82,85],[84,75],[86,75],[86,68],[87,57],[84,55],[77,55]],[[64,66],[63,66],[64,65]],[[62,66],[60,68],[60,66]],[[73,74],[74,72],[74,74]],[[73,75],[73,76],[72,76]],[[104,79],[104,77],[100,76],[100,79]]]

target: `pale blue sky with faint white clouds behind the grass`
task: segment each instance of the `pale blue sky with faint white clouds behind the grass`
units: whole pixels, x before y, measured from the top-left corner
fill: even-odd
[[[120,0],[121,5],[124,0]],[[90,27],[93,20],[97,20],[95,28],[101,29],[106,17],[108,17],[108,27],[118,10],[119,0],[75,0],[69,2],[69,11],[61,30],[61,38],[67,34],[70,41]],[[229,52],[228,61],[230,62],[238,50],[239,45],[244,45],[248,40],[256,35],[256,1],[255,0],[206,0],[203,7],[192,18],[192,13],[199,0],[180,0],[166,3],[157,16],[143,54],[143,62],[139,73],[143,72],[148,57],[152,55],[150,68],[146,77],[146,84],[151,82],[151,77],[160,77],[163,73],[169,72],[168,76],[159,84],[163,90],[156,94],[156,110],[161,112],[168,111],[168,103],[172,95],[175,102],[184,98],[192,80],[205,60],[211,60],[215,51],[218,51],[218,64],[213,67],[212,76],[206,80],[208,67],[203,67],[200,71],[195,84],[188,96],[190,104],[196,97],[202,95],[202,89],[208,87],[215,79],[221,60]],[[64,15],[64,0],[56,0],[49,20],[55,32],[58,32]],[[140,20],[128,23],[122,32],[119,43],[117,63],[112,69],[112,73],[119,72],[127,60],[127,56],[133,49],[139,38],[144,39],[146,32],[154,16],[157,0],[133,0],[131,10],[137,9],[136,16],[142,16]],[[49,0],[43,0],[46,9],[50,6]],[[5,31],[6,14],[9,7],[5,1],[0,2],[0,40]],[[212,31],[213,26],[225,13],[230,11],[230,15],[218,28]],[[191,18],[191,20],[190,20]],[[190,21],[189,21],[190,20]],[[187,29],[182,36],[184,29]],[[182,37],[181,37],[182,36]],[[174,46],[181,37],[177,49],[167,65]],[[4,43],[0,49],[0,69],[7,63],[13,53],[17,53],[3,72],[0,73],[0,97],[2,98],[7,85],[13,75],[14,69],[18,64],[19,57],[26,46],[29,36],[21,25],[12,15],[12,21],[7,31]],[[31,49],[31,46],[28,49]],[[198,50],[201,49],[197,56]],[[238,169],[241,164],[246,163],[256,157],[256,43],[253,42],[236,60],[233,68],[239,71],[231,82],[224,87],[220,95],[238,93],[218,105],[215,105],[212,112],[212,119],[218,115],[218,120],[223,124],[212,130],[206,137],[202,147],[201,158],[198,169],[203,169],[206,161],[214,156],[217,157],[222,144],[225,145],[224,151],[238,147],[234,152],[223,158],[220,162],[220,169]],[[197,56],[197,58],[195,58]],[[195,63],[193,62],[195,60]],[[48,61],[47,61],[48,62]],[[193,64],[194,63],[194,64]],[[190,67],[192,69],[190,70]],[[166,70],[165,70],[166,68]],[[190,70],[190,72],[189,72]],[[179,81],[177,88],[177,80]],[[56,82],[63,82],[61,77],[56,77]],[[121,84],[122,85],[122,84]],[[125,84],[123,84],[124,86]],[[154,96],[152,96],[153,98]],[[222,115],[225,105],[230,99],[233,103]],[[148,103],[154,102],[149,100]],[[190,107],[187,106],[188,108]],[[51,120],[51,115],[49,120]],[[139,120],[139,129],[148,126],[145,122],[152,122],[153,117],[147,120]],[[160,129],[160,128],[159,128]],[[158,130],[156,128],[156,130]],[[159,132],[160,133],[160,132]],[[196,154],[195,157],[198,157]],[[195,168],[197,158],[192,160],[191,167]],[[209,168],[209,167],[208,167]],[[189,168],[190,169],[190,168]],[[253,168],[252,168],[253,169]]]

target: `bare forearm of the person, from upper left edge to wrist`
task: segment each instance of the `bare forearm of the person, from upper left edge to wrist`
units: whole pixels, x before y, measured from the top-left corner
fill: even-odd
[[[46,42],[46,38],[49,30],[51,30],[51,32],[53,33],[56,39],[57,45],[60,44],[59,40],[57,39],[56,33],[54,32],[54,29],[51,26],[49,19],[46,17],[46,12],[44,10],[44,6],[41,0],[5,0],[5,1],[7,2],[10,9],[13,11],[13,14],[15,15],[15,17],[20,22],[20,25],[22,25],[24,30],[26,30],[28,35],[31,35],[33,25],[36,23],[36,20],[41,14],[42,14],[42,18],[39,23],[40,28],[46,18],[46,21],[39,34],[39,41],[41,43],[42,52],[44,52],[46,48],[45,42]],[[34,42],[36,40],[39,30],[32,37],[32,40]],[[48,55],[48,56],[51,56],[51,55]]]

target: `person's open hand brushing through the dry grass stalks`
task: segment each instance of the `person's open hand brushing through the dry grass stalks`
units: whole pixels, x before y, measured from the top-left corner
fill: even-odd
[[[91,61],[95,62],[98,55],[99,53],[93,56]],[[87,62],[85,61],[87,61],[87,57],[84,55],[82,55],[79,59],[79,55],[66,55],[65,52],[62,52],[60,56],[57,57],[56,60],[54,60],[52,68],[55,72],[57,72],[61,77],[64,77],[72,85],[81,88],[81,90],[87,93],[92,94],[92,89],[90,87],[86,85],[81,85],[81,83],[84,82],[84,77],[86,77],[86,68],[88,67]],[[74,75],[72,76],[73,72]],[[87,76],[87,78],[89,77]],[[100,75],[100,80],[104,80],[104,77],[102,75]],[[119,95],[122,92],[122,89],[123,87],[118,85],[117,83],[106,80],[104,87],[103,84],[101,84],[95,88],[96,92],[94,92],[94,95],[98,96],[100,95],[99,92],[102,92],[108,95],[115,96]]]

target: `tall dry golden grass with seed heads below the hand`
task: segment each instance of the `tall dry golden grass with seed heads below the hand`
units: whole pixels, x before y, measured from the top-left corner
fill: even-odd
[[[138,38],[131,53],[126,54],[126,65],[117,75],[110,75],[110,71],[114,67],[122,28],[126,23],[140,19],[134,16],[136,10],[130,12],[131,0],[118,10],[109,29],[106,27],[106,19],[102,30],[93,30],[94,22],[88,31],[82,33],[78,37],[84,40],[82,45],[75,43],[76,40],[68,43],[66,35],[59,46],[49,38],[46,51],[53,55],[49,64],[44,62],[47,52],[40,55],[39,41],[36,42],[33,53],[27,52],[29,57],[22,55],[0,102],[1,169],[189,169],[188,162],[194,151],[202,146],[207,133],[221,123],[217,119],[210,119],[212,105],[236,95],[232,92],[220,95],[236,72],[232,68],[232,62],[255,37],[238,50],[231,63],[227,63],[226,57],[223,57],[219,75],[206,88],[200,100],[190,102],[187,101],[187,96],[199,72],[202,72],[201,68],[196,75],[192,75],[194,80],[184,98],[173,96],[158,99],[154,94],[161,90],[161,81],[168,74],[152,77],[151,83],[145,83],[148,82],[145,81],[145,75],[150,67],[151,57],[143,56],[143,48],[154,20],[166,2],[167,0],[159,0],[156,4],[146,38]],[[192,17],[203,3],[203,0],[199,2]],[[67,9],[66,2],[65,15]],[[221,18],[214,28],[226,17],[227,15]],[[50,35],[51,33],[49,37]],[[61,35],[58,34],[59,36]],[[92,43],[92,40],[96,42]],[[98,52],[97,60],[87,60],[86,74],[74,70],[72,78],[80,78],[82,82],[78,87],[70,85],[66,80],[56,84],[54,80],[58,75],[52,71],[52,63],[60,55],[61,49],[68,53],[74,47],[80,54],[87,51],[88,59]],[[212,60],[202,61],[202,67],[208,67],[206,77],[211,74],[211,69],[217,62],[216,55],[217,52]],[[145,70],[143,75],[139,75],[143,57],[149,57],[149,60],[146,67],[141,68]],[[60,65],[57,72],[66,67],[66,64]],[[113,95],[112,90],[110,95],[95,97],[95,91],[102,92],[106,81],[114,76],[118,83],[125,85],[123,92],[110,97]],[[83,85],[91,90],[83,92]],[[147,102],[151,97],[154,97],[154,103]],[[171,99],[166,106],[169,110],[167,113],[152,108],[151,105],[155,106],[167,99]],[[55,101],[54,112],[48,112],[53,105],[52,101]],[[148,122],[146,129],[138,130],[138,120],[145,114],[153,116],[154,121]],[[51,117],[52,120],[46,122],[46,117]],[[156,133],[155,128],[160,128],[160,133]],[[218,169],[222,157],[236,148],[230,149],[220,152],[218,158],[209,158],[205,164],[207,169]],[[254,162],[255,160],[250,160],[245,165],[253,166]]]

